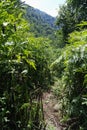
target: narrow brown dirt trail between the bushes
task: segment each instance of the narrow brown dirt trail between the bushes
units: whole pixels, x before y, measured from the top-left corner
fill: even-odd
[[[63,130],[59,125],[58,111],[54,110],[55,104],[57,104],[57,101],[52,92],[43,94],[43,109],[47,130]]]

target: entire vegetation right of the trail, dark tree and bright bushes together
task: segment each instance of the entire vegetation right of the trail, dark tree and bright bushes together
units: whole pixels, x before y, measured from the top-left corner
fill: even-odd
[[[60,57],[52,64],[58,77],[54,92],[62,104],[61,121],[66,123],[66,130],[86,130],[87,1],[67,0],[66,3],[60,8],[57,22],[64,44]]]

